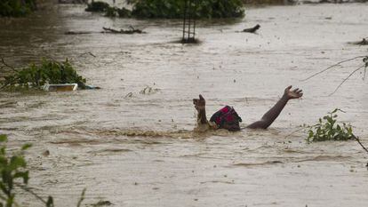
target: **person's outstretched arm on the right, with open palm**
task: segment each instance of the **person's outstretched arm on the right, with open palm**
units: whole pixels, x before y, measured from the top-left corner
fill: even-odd
[[[292,90],[292,85],[288,86],[285,91],[283,97],[277,101],[274,107],[268,110],[268,112],[262,116],[260,121],[252,123],[247,126],[250,129],[267,129],[271,123],[274,123],[277,116],[280,115],[281,111],[284,109],[284,106],[289,100],[299,99],[303,96],[302,90],[299,88]]]

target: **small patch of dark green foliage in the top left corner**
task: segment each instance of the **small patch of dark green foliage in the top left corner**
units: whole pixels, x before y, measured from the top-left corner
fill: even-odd
[[[36,10],[36,0],[1,0],[0,17],[21,17]]]

